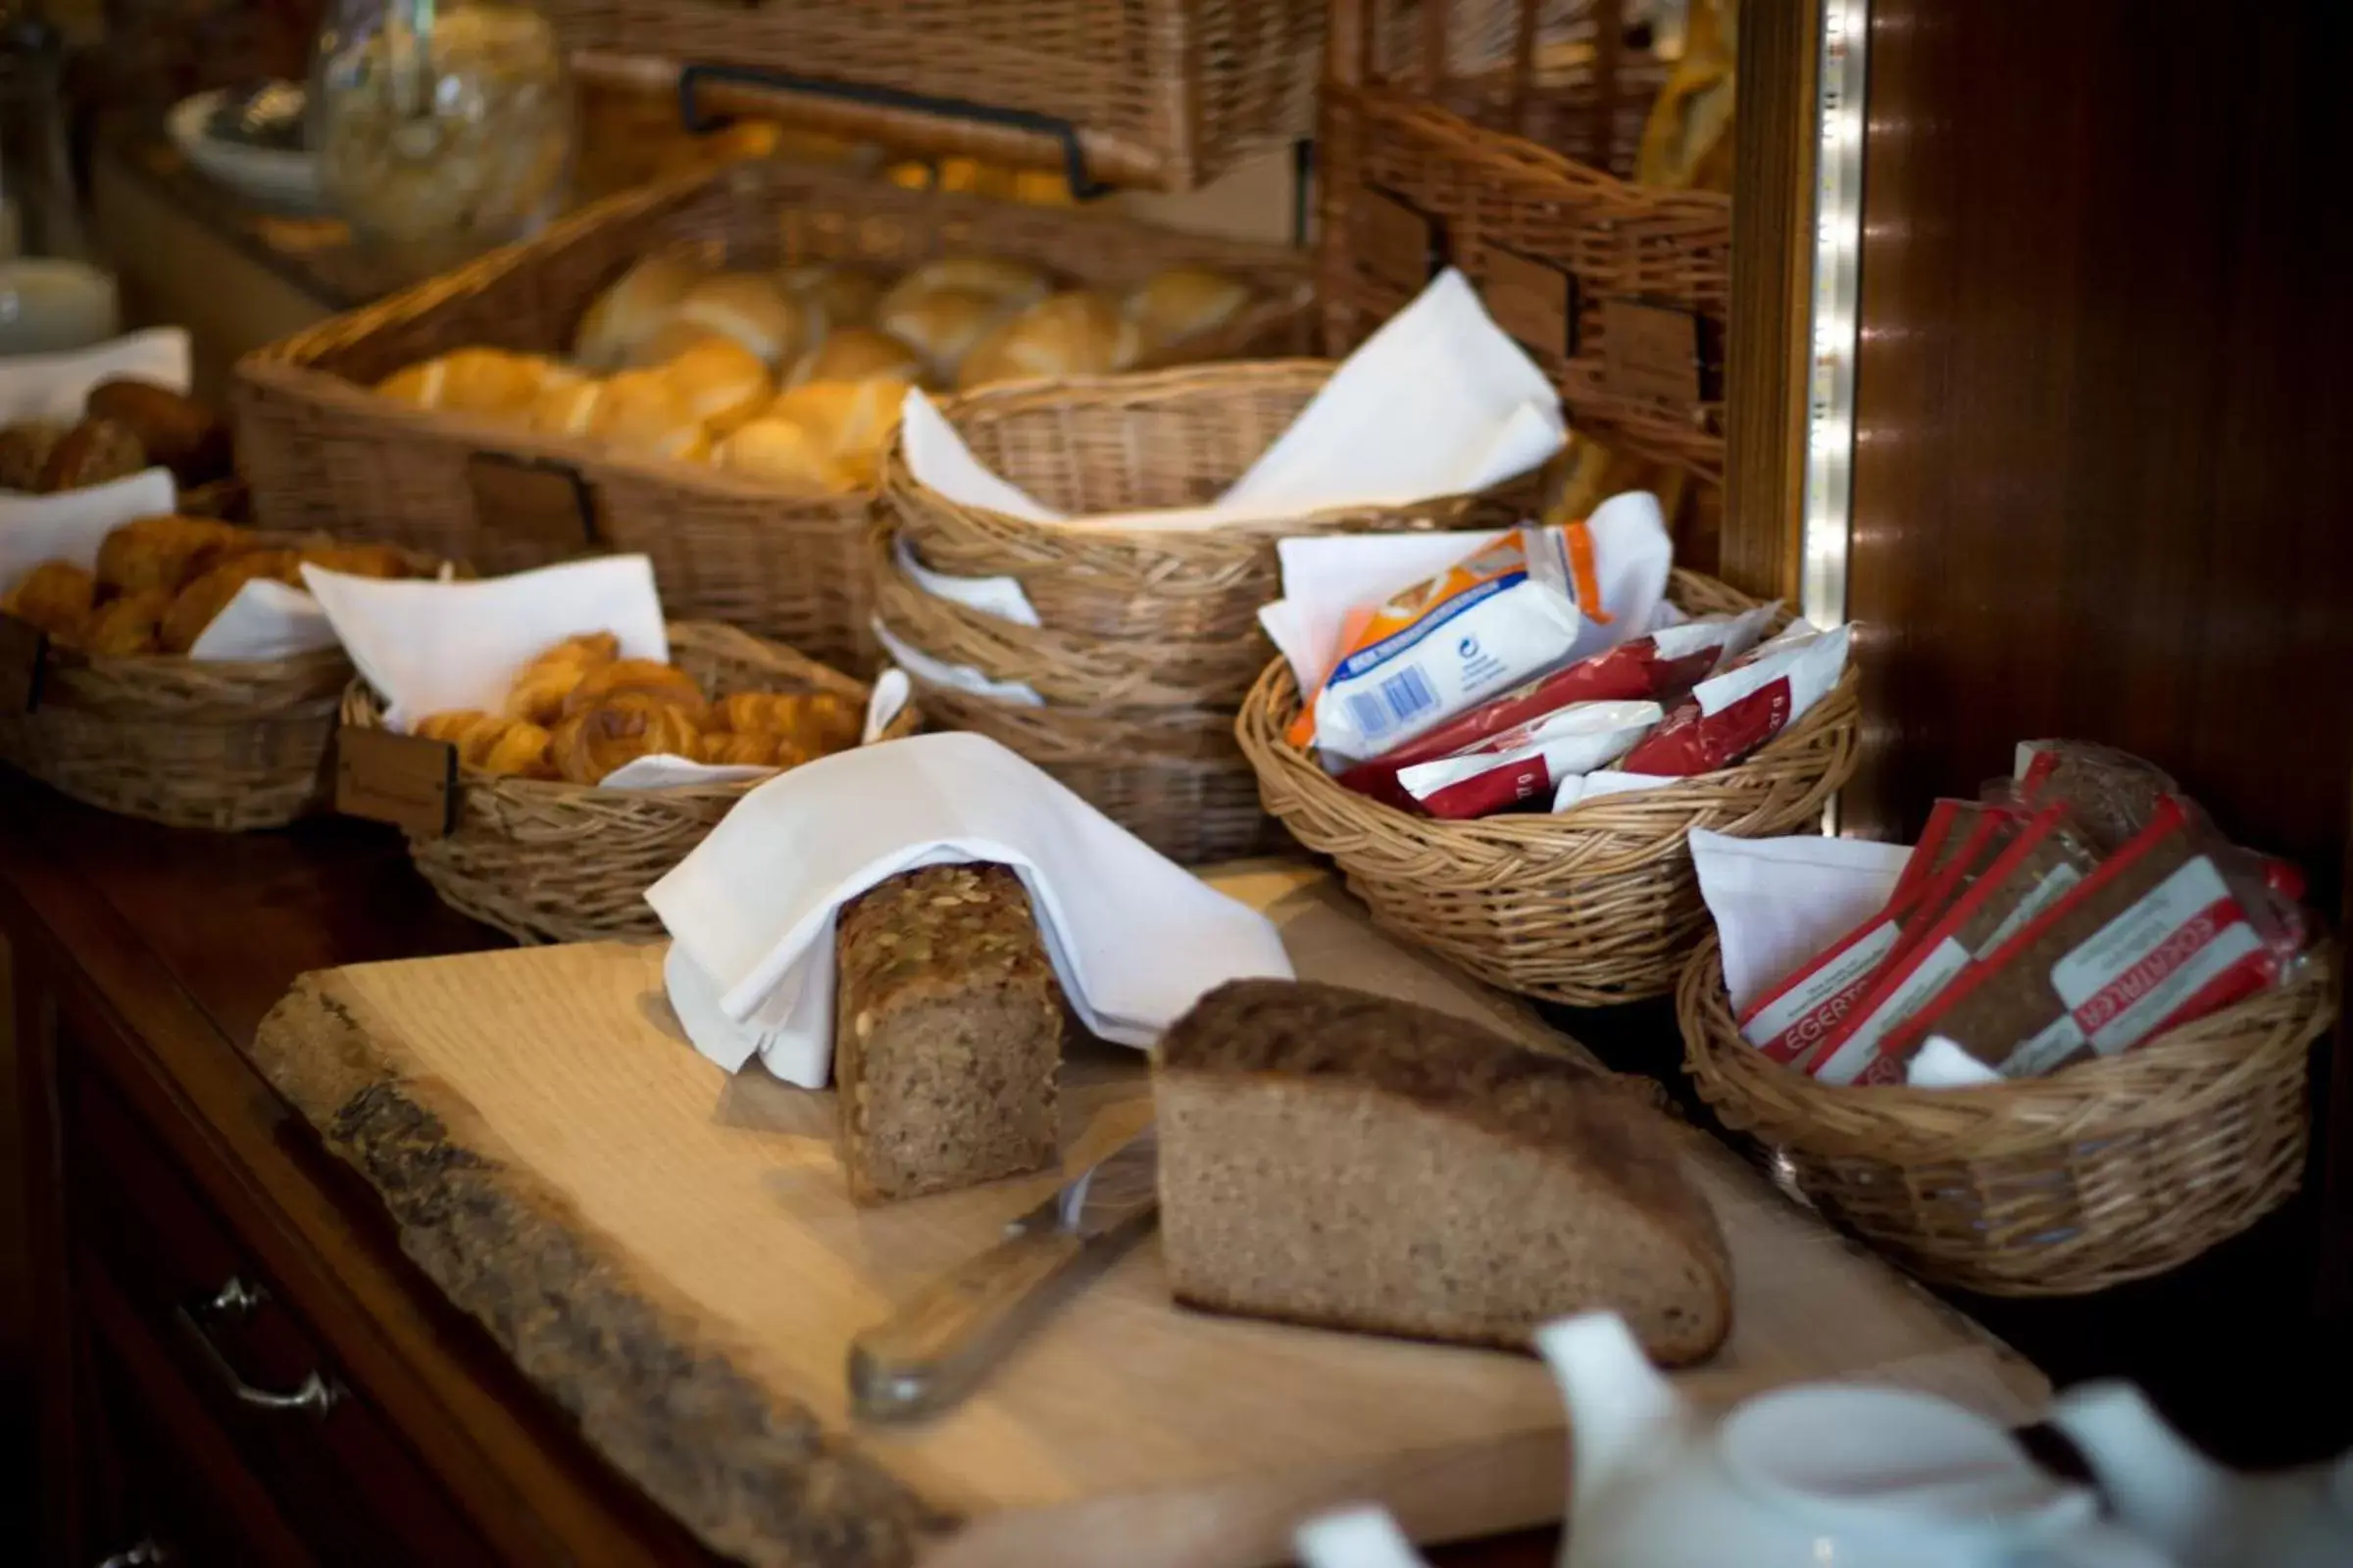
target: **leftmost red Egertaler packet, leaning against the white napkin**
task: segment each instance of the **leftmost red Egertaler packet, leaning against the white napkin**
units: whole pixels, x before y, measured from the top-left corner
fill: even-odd
[[[1887,905],[1751,1001],[1739,1018],[1741,1039],[1777,1063],[1805,1065],[1897,954],[1906,929],[1918,931],[1922,914],[1941,910],[1960,879],[1986,860],[2007,818],[2000,806],[1974,799],[1937,802]]]

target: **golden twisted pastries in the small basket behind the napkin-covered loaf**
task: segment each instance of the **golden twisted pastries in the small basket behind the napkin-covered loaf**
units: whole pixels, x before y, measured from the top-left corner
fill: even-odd
[[[791,769],[849,750],[864,724],[864,708],[831,691],[711,698],[685,670],[621,658],[619,637],[584,632],[522,665],[499,712],[433,712],[414,733],[482,773],[595,785],[638,757]]]

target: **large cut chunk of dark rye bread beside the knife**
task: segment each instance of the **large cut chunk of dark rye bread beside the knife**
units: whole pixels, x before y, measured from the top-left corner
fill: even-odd
[[[1179,1300],[1525,1349],[1591,1309],[1652,1359],[1732,1328],[1732,1260],[1666,1117],[1584,1063],[1386,997],[1235,980],[1153,1056]]]

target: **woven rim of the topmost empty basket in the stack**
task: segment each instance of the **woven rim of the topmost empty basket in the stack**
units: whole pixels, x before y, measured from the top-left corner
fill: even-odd
[[[939,402],[941,418],[962,435],[962,425],[981,418],[1007,418],[1026,411],[1068,411],[1085,402],[1162,402],[1179,395],[1217,393],[1219,388],[1271,386],[1322,386],[1339,369],[1339,360],[1214,360],[1209,364],[1176,364],[1169,369],[1115,371],[1104,376],[1059,376],[1040,381],[998,381],[958,393]],[[1240,477],[1240,475],[1235,475]],[[1219,529],[1106,529],[1080,522],[1033,522],[986,505],[948,501],[908,470],[899,435],[892,437],[882,461],[882,494],[901,508],[962,515],[981,524],[1033,534],[1040,538],[1082,538],[1096,548],[1127,548],[1136,552],[1200,555],[1217,550],[1217,541],[1249,550],[1266,538],[1280,538],[1304,527],[1346,522],[1348,517],[1372,517],[1393,512],[1449,510],[1471,503],[1471,494],[1424,496],[1386,505],[1329,505],[1308,512],[1289,512],[1259,522],[1235,522]],[[1221,550],[1233,552],[1233,550]]]

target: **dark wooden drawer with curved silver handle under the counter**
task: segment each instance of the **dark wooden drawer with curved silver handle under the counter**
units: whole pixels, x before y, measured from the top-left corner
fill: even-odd
[[[75,1291],[118,1361],[134,1375],[146,1356],[169,1366],[318,1559],[492,1561],[367,1389],[325,1356],[315,1331],[82,1060],[59,1051]]]

